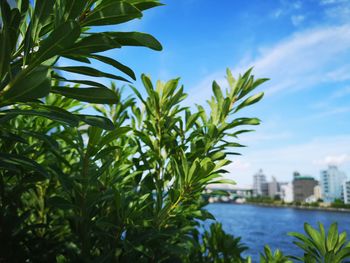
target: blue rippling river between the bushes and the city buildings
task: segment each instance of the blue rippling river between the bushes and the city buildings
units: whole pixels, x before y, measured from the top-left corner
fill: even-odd
[[[321,222],[326,230],[332,222],[338,222],[339,230],[346,231],[350,240],[350,213],[238,204],[209,204],[207,210],[227,233],[242,237],[241,241],[249,247],[245,255],[251,255],[253,262],[259,262],[259,252],[265,244],[284,254],[300,256],[294,238],[287,233],[304,233],[304,222],[313,227]]]

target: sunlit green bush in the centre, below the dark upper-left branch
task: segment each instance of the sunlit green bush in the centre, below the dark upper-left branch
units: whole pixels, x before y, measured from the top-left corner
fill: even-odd
[[[209,183],[225,182],[220,177],[229,149],[241,147],[228,136],[259,123],[232,114],[257,101],[244,96],[261,81],[250,71],[237,80],[228,71],[228,80],[226,93],[213,83],[209,111],[181,107],[186,94],[178,79],[154,86],[143,75],[147,97],[133,88],[143,109],[112,87],[117,104],[94,107],[112,120],[113,130],[42,116],[3,123],[16,140],[2,141],[1,151],[27,162],[1,171],[4,260],[185,260],[198,220],[213,218],[203,208],[202,192]],[[81,114],[77,100],[50,94],[45,102]]]

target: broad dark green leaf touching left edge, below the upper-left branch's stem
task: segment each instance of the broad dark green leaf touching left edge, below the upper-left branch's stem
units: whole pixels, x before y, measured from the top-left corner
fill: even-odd
[[[42,98],[50,92],[49,70],[38,67],[29,72],[23,71],[2,91],[0,103],[29,101]]]

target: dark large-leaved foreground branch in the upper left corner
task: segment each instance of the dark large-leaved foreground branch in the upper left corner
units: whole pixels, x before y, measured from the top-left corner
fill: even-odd
[[[116,26],[142,17],[142,11],[160,5],[157,0],[19,0],[11,8],[1,1],[0,31],[0,122],[17,115],[42,116],[62,124],[80,122],[113,129],[101,116],[74,114],[52,105],[43,105],[49,93],[84,102],[115,104],[118,97],[97,78],[129,82],[134,72],[101,52],[123,46],[144,46],[161,50],[151,35],[140,32],[102,31],[101,25]],[[59,66],[62,59],[74,66]],[[73,64],[73,61],[75,63]],[[68,61],[68,60],[66,60]],[[89,64],[99,61],[116,74],[99,71]],[[77,77],[77,74],[80,77]],[[74,76],[69,77],[67,76]],[[89,80],[93,78],[93,80]],[[80,84],[69,87],[70,83]],[[13,108],[11,105],[25,105]],[[21,156],[6,156],[6,163],[28,165]],[[9,166],[9,165],[7,165]]]

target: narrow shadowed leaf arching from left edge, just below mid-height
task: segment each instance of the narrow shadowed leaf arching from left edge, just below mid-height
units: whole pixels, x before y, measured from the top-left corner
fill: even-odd
[[[45,177],[48,176],[47,172],[37,162],[14,154],[0,153],[0,167],[9,170],[30,170],[38,172]]]

